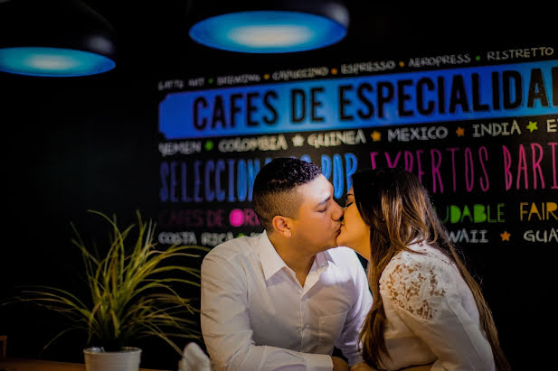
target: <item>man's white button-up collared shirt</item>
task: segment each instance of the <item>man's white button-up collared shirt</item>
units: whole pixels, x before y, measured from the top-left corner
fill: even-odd
[[[372,306],[363,265],[336,247],[316,255],[304,287],[264,232],[215,246],[202,264],[203,340],[217,370],[331,370],[341,349],[362,361]]]

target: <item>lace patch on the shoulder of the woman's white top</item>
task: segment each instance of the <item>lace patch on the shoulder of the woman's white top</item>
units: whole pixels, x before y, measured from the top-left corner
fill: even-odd
[[[412,254],[417,255],[417,254]],[[432,320],[440,312],[441,301],[448,291],[448,277],[426,256],[403,253],[386,267],[381,290],[393,306],[424,320]]]

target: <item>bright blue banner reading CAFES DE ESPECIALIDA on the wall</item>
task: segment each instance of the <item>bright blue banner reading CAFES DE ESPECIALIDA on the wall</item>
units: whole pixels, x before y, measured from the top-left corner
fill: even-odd
[[[167,139],[558,114],[558,61],[168,94]]]

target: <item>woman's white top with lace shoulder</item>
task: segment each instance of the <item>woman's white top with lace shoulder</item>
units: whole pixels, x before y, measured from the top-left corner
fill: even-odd
[[[387,318],[383,367],[434,362],[431,370],[494,370],[478,309],[458,268],[439,250],[411,245],[392,258],[380,278]]]

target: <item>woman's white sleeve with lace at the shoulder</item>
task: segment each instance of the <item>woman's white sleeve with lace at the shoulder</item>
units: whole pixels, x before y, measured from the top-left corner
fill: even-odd
[[[431,370],[494,370],[492,349],[465,310],[455,280],[435,264],[400,264],[387,275],[381,294],[438,358]]]

